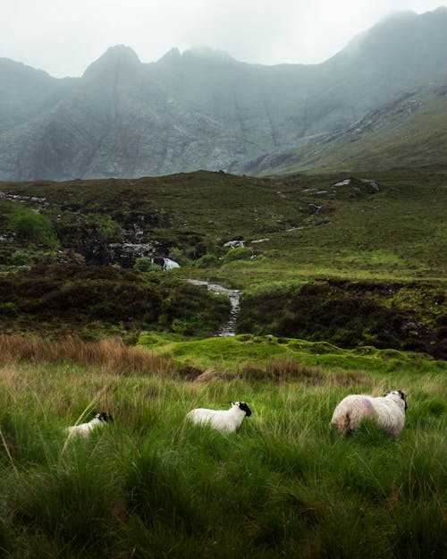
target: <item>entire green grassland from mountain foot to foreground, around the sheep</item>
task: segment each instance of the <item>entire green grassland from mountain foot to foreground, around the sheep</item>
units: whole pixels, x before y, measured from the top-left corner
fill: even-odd
[[[365,176],[1,184],[1,556],[447,555],[446,168]],[[131,232],[181,268],[111,259]],[[240,289],[238,335],[188,277]],[[397,440],[330,428],[393,388]],[[232,436],[185,422],[237,400]],[[67,441],[93,411],[113,424]]]

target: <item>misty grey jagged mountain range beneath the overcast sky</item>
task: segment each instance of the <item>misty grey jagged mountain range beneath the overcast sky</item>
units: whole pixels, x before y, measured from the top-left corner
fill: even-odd
[[[381,21],[324,64],[245,64],[211,49],[142,64],[117,46],[56,80],[2,59],[0,180],[252,168],[444,70],[445,8]]]

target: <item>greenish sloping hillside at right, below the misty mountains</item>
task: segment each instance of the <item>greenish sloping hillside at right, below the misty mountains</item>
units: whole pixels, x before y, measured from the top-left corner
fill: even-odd
[[[282,174],[319,169],[353,172],[447,164],[447,73],[409,89],[349,127],[306,145],[259,157],[235,171]]]

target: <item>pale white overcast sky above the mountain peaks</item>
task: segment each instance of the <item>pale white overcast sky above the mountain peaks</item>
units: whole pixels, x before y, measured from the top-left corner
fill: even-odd
[[[258,64],[327,60],[387,14],[443,0],[0,0],[0,57],[80,76],[108,47],[143,63],[203,46]]]

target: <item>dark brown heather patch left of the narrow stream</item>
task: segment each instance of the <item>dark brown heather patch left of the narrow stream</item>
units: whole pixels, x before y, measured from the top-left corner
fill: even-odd
[[[229,301],[167,276],[116,267],[31,267],[0,276],[1,331],[52,336],[119,334],[149,326],[211,335]]]

